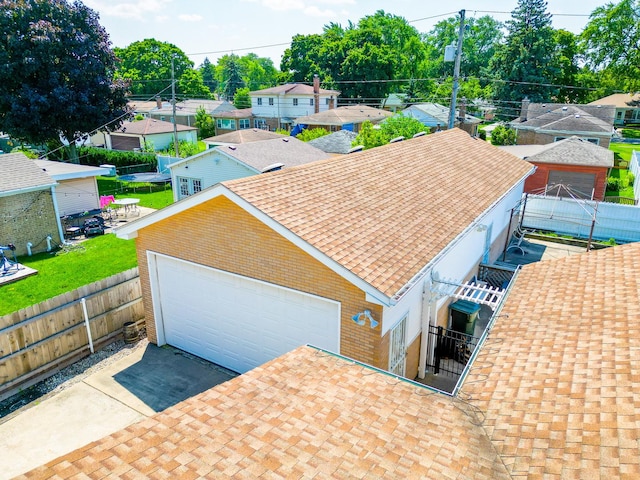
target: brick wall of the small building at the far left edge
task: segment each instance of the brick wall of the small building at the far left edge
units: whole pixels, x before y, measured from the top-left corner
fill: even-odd
[[[33,253],[44,252],[47,235],[61,243],[51,190],[0,197],[0,245],[13,243],[18,256],[27,254],[27,242]]]

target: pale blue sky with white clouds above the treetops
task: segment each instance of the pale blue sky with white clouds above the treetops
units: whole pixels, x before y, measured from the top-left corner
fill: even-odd
[[[255,53],[280,59],[294,35],[322,33],[329,23],[346,27],[377,10],[404,17],[419,32],[465,10],[466,17],[508,20],[517,0],[84,0],[100,15],[114,47],[146,38],[176,45],[198,67],[225,54]],[[548,0],[553,27],[580,33],[605,0]],[[615,2],[614,2],[615,3]],[[472,8],[470,8],[472,7]]]

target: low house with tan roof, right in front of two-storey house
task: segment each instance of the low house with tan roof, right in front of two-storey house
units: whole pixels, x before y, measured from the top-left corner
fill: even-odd
[[[350,130],[358,133],[366,121],[374,125],[392,117],[393,113],[366,105],[348,105],[295,119],[300,128],[324,128],[329,132]]]

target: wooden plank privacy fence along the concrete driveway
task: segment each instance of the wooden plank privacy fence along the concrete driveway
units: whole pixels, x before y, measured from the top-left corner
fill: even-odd
[[[90,345],[116,340],[126,322],[143,320],[137,268],[0,317],[0,400],[89,355]]]

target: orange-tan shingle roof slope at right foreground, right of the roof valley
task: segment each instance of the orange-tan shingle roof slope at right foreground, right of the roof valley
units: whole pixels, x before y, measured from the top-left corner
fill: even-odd
[[[640,243],[526,265],[462,388],[513,478],[640,478]]]

